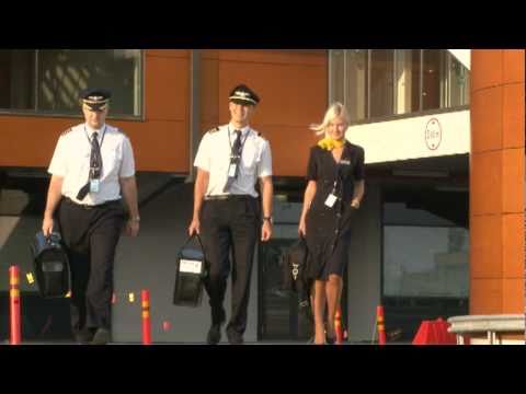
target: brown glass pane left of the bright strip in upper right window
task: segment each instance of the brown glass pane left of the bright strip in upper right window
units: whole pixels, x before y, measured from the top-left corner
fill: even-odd
[[[392,49],[370,51],[370,117],[393,114],[393,68]]]

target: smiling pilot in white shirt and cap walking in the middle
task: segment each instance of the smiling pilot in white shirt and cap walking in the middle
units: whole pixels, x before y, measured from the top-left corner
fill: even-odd
[[[247,85],[236,86],[229,96],[229,124],[205,134],[194,162],[197,177],[188,233],[201,235],[209,262],[205,281],[211,309],[208,344],[220,341],[227,320],[222,303],[231,252],[231,314],[226,333],[230,344],[243,343],[255,246],[260,234],[263,242],[272,235],[271,147],[249,126],[259,101]],[[261,207],[254,188],[258,182]]]

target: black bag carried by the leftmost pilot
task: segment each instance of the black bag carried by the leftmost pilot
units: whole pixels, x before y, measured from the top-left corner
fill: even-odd
[[[69,259],[59,233],[37,232],[30,245],[38,291],[43,298],[62,298],[71,290]]]

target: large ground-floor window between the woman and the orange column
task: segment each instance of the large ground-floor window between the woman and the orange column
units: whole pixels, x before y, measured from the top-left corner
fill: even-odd
[[[467,299],[468,193],[397,187],[384,198],[384,296]]]

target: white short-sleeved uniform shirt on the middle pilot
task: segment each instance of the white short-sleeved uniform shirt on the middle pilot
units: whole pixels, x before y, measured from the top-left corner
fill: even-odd
[[[205,196],[236,194],[258,197],[254,189],[258,178],[272,175],[272,154],[268,141],[249,126],[241,129],[243,150],[238,177],[230,190],[224,193],[230,166],[231,147],[236,141],[236,128],[232,125],[225,125],[218,129],[203,136],[194,161],[194,166],[209,173]]]

